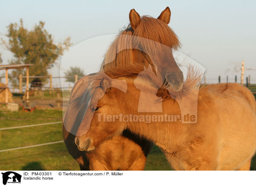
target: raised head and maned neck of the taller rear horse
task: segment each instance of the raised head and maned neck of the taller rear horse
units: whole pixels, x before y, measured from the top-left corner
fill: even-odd
[[[151,65],[169,84],[169,89],[180,91],[183,73],[172,55],[172,49],[177,49],[180,42],[168,26],[170,16],[169,7],[157,19],[140,17],[132,9],[129,14],[130,25],[110,45],[101,70],[125,65],[143,71],[144,67]]]

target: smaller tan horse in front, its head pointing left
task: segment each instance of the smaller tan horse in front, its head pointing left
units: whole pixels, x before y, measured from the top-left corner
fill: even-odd
[[[112,77],[125,79],[128,86],[126,93],[113,88],[108,76],[102,75],[101,80],[99,75],[93,77],[97,81],[91,81],[94,89],[92,99],[98,97],[101,91],[105,95],[100,95],[96,105],[91,102],[91,107],[96,108],[98,116],[106,114],[112,120],[99,122],[98,117],[93,116],[87,133],[76,137],[80,148],[84,145],[93,148],[108,137],[129,129],[155,142],[175,170],[250,169],[250,161],[256,151],[256,102],[250,90],[234,83],[207,85],[199,89],[199,75],[193,75],[190,70],[179,95],[167,97],[166,91],[159,91],[157,96],[163,98],[163,113],[139,113],[140,91],[136,87],[141,84],[144,90],[148,90],[148,99],[156,99],[157,102],[157,96],[150,93],[159,88],[159,80],[150,78],[151,75],[137,78],[132,71],[125,69],[124,77],[121,77],[120,71],[117,74],[112,72]],[[180,107],[173,97],[182,99],[197,90],[197,123],[183,124],[179,120]],[[132,120],[122,116],[132,116]],[[151,121],[143,116],[151,116]],[[81,129],[84,127],[80,126]],[[97,134],[100,131],[105,133],[99,138]]]

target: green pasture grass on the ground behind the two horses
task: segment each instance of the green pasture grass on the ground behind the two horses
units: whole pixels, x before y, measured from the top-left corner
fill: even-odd
[[[61,121],[59,110],[35,110],[33,113],[0,111],[0,128]],[[63,140],[61,123],[0,131],[0,150]],[[0,152],[0,170],[79,170],[65,144]],[[157,146],[148,155],[145,170],[172,170]],[[256,156],[251,163],[256,170]]]

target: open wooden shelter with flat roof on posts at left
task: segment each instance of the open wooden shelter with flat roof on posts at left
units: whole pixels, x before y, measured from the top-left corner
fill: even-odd
[[[6,70],[6,86],[1,87],[6,90],[5,102],[8,103],[8,69],[26,68],[26,101],[29,100],[29,67],[34,64],[6,64],[0,65],[0,70]]]

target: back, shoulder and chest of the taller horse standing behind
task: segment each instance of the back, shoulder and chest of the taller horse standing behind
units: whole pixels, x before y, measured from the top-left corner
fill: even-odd
[[[79,117],[83,115],[82,113],[87,108],[88,101],[84,97],[88,96],[90,98],[90,89],[86,84],[90,76],[79,79],[73,87],[69,107],[65,113],[67,117],[73,116],[73,118],[76,118],[76,120],[71,120],[69,123],[73,126],[71,130],[77,130],[76,123],[79,123]],[[111,137],[103,142],[95,150],[81,149],[77,148],[76,136],[72,134],[76,131],[70,133],[64,126],[62,126],[64,142],[69,153],[79,163],[81,170],[144,170],[146,157],[151,150],[152,142],[126,130],[122,135]],[[93,151],[88,153],[84,150]]]

